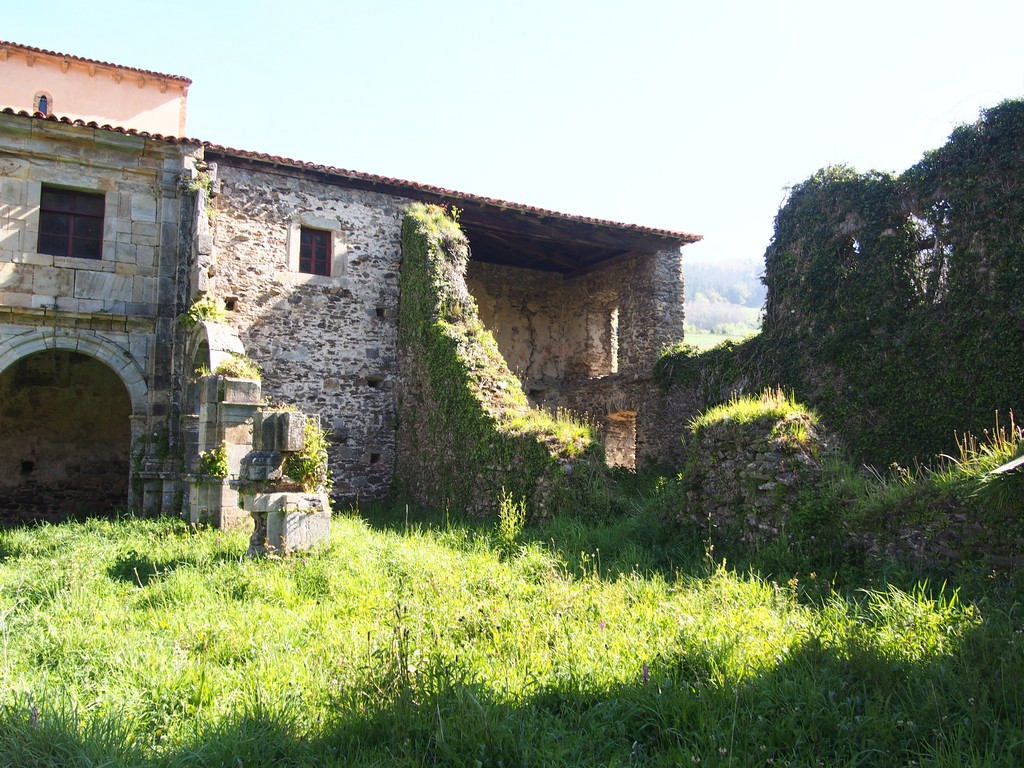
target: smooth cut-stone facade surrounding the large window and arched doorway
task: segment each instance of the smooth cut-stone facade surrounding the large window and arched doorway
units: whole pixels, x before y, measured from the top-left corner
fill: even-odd
[[[131,435],[135,467],[159,453],[153,465],[158,473],[167,469],[175,431],[171,350],[180,256],[178,181],[195,151],[0,114],[0,373],[45,350],[73,350],[98,360],[128,390],[130,417],[112,418],[130,418],[123,426]],[[103,195],[101,258],[38,253],[44,184]],[[69,449],[86,459],[96,451],[79,434],[69,438]],[[0,477],[20,477],[22,461],[3,452]],[[126,484],[127,467],[123,471]],[[137,493],[121,505],[141,505],[141,489],[134,487]],[[82,484],[80,493],[86,499],[95,488]],[[159,497],[157,504],[159,509]]]

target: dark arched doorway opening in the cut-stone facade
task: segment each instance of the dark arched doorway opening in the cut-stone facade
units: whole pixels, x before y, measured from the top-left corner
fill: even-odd
[[[131,415],[122,378],[74,349],[35,351],[0,371],[0,524],[124,507]]]

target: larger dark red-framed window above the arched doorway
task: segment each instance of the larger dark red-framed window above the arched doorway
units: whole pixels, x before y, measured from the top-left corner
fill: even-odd
[[[98,259],[103,251],[103,196],[44,186],[39,202],[39,253]]]

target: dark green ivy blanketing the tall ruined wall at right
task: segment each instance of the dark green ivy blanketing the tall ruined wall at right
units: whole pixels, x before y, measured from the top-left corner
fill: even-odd
[[[765,253],[761,336],[662,378],[699,391],[781,385],[858,458],[952,453],[1024,413],[1024,101],[956,129],[899,176],[823,169],[795,186]]]

